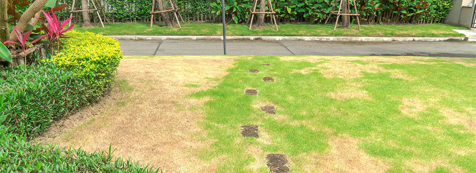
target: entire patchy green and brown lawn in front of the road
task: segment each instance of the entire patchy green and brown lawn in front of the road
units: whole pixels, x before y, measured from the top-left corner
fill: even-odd
[[[474,74],[475,58],[128,57],[115,102],[38,140],[165,172],[475,172]]]

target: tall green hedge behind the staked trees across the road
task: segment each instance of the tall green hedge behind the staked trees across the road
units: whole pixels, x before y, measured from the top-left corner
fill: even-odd
[[[186,21],[217,22],[221,19],[220,0],[175,0]],[[225,0],[227,21],[245,23],[254,0]],[[272,0],[281,23],[324,23],[335,0]],[[71,5],[72,0],[58,0]],[[106,15],[115,22],[149,21],[150,0],[102,0]],[[166,3],[168,1],[166,0]],[[437,23],[452,7],[452,0],[356,0],[361,23]],[[351,9],[354,10],[354,7]],[[92,18],[97,15],[91,13]],[[81,15],[78,13],[78,15]],[[60,12],[64,20],[68,10]],[[332,19],[335,19],[335,15]],[[265,18],[266,20],[269,17]],[[98,21],[95,19],[95,21]]]

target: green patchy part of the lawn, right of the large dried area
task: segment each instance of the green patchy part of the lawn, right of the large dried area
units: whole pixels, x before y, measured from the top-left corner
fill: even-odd
[[[387,172],[476,171],[476,79],[469,75],[476,59],[251,58],[237,60],[218,86],[191,95],[210,99],[201,124],[212,144],[197,153],[219,158],[218,172],[267,172],[269,153],[287,155],[297,173],[326,162],[339,166],[325,159],[336,154],[329,152],[336,136],[357,140],[358,150],[388,165]],[[276,81],[263,82],[266,76]],[[245,95],[247,87],[258,94]],[[266,104],[277,107],[276,115],[260,110]],[[259,127],[260,138],[240,135],[247,124]],[[353,148],[337,145],[343,155]]]

